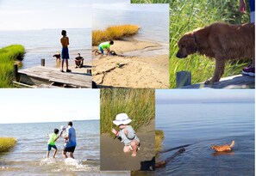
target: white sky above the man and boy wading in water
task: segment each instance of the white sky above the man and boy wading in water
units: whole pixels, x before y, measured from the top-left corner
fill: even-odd
[[[0,89],[1,124],[100,118],[98,89]]]

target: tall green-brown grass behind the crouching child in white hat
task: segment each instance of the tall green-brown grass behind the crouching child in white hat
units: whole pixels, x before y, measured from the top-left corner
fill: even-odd
[[[101,133],[109,133],[112,128],[117,130],[112,121],[118,113],[128,114],[134,130],[149,124],[155,116],[153,89],[102,88],[100,101]]]

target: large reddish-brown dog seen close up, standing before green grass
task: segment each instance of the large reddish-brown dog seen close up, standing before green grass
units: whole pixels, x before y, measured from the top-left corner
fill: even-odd
[[[198,53],[209,58],[215,58],[214,76],[206,84],[218,82],[228,59],[255,58],[255,25],[230,25],[216,22],[208,27],[185,33],[178,41],[177,58],[186,58]]]

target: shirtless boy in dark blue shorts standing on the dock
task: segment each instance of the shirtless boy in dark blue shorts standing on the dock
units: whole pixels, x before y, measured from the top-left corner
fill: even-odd
[[[62,62],[61,62],[61,72],[64,72],[63,67],[64,67],[64,60],[66,60],[66,72],[71,72],[72,70],[68,69],[68,59],[69,59],[69,53],[68,53],[68,45],[69,45],[69,39],[66,36],[66,30],[62,30],[61,31],[61,35],[63,36],[60,39],[60,43],[62,45],[62,50],[61,50],[61,58],[62,58]]]

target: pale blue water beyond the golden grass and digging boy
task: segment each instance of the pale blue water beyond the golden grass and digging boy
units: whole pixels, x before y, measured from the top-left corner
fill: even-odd
[[[103,30],[109,26],[122,24],[134,24],[140,27],[139,33],[135,35],[134,39],[153,41],[162,45],[161,50],[156,51],[156,54],[169,53],[168,10],[163,12],[152,12],[117,9],[94,9],[93,11],[93,30]]]

